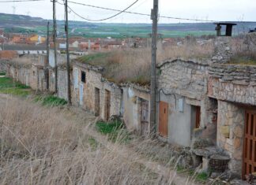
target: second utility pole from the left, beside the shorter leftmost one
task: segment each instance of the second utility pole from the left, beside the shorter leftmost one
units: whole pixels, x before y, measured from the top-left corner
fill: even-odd
[[[55,0],[52,0],[53,3],[53,42],[54,42],[54,50],[55,50],[55,94],[58,93],[58,64],[57,64],[57,43],[56,43],[56,37],[57,37],[57,31],[56,31],[56,2]]]

